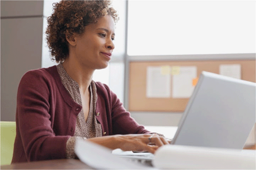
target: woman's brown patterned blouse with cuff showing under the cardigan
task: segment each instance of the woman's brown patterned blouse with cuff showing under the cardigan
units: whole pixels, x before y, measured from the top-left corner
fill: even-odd
[[[61,77],[61,82],[64,87],[67,89],[69,95],[72,99],[82,106],[81,102],[81,94],[79,90],[79,85],[75,82],[66,72],[63,65],[60,63],[57,65],[58,73]],[[96,110],[96,101],[97,101],[97,93],[96,93],[96,86],[95,82],[92,81],[90,86],[90,107],[88,118],[85,120],[83,109],[78,114],[76,118],[76,125],[75,125],[75,132],[74,136],[67,140],[66,144],[66,156],[67,158],[75,158],[76,155],[74,153],[74,144],[75,140],[78,138],[82,139],[89,139],[95,137],[102,136],[102,129],[101,124],[97,122],[95,117],[95,110]]]

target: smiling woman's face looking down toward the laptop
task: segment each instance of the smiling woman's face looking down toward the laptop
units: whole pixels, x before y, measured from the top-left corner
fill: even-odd
[[[115,22],[105,15],[97,23],[85,27],[82,35],[76,36],[75,57],[79,64],[89,69],[103,69],[108,66],[115,48]]]

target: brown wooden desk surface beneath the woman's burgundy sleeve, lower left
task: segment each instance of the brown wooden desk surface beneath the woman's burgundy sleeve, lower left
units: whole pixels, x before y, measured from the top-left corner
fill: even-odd
[[[1,170],[92,170],[79,159],[55,159],[2,165]]]

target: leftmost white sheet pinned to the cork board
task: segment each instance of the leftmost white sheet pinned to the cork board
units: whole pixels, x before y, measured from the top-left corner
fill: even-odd
[[[163,75],[161,67],[147,68],[147,97],[169,98],[171,97],[171,75]]]

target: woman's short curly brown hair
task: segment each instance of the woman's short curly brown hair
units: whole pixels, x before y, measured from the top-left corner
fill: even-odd
[[[85,26],[96,23],[97,19],[111,15],[118,21],[117,11],[109,7],[110,0],[61,0],[54,3],[54,13],[47,18],[46,39],[52,60],[63,62],[68,55],[67,38],[74,33],[81,35]]]

